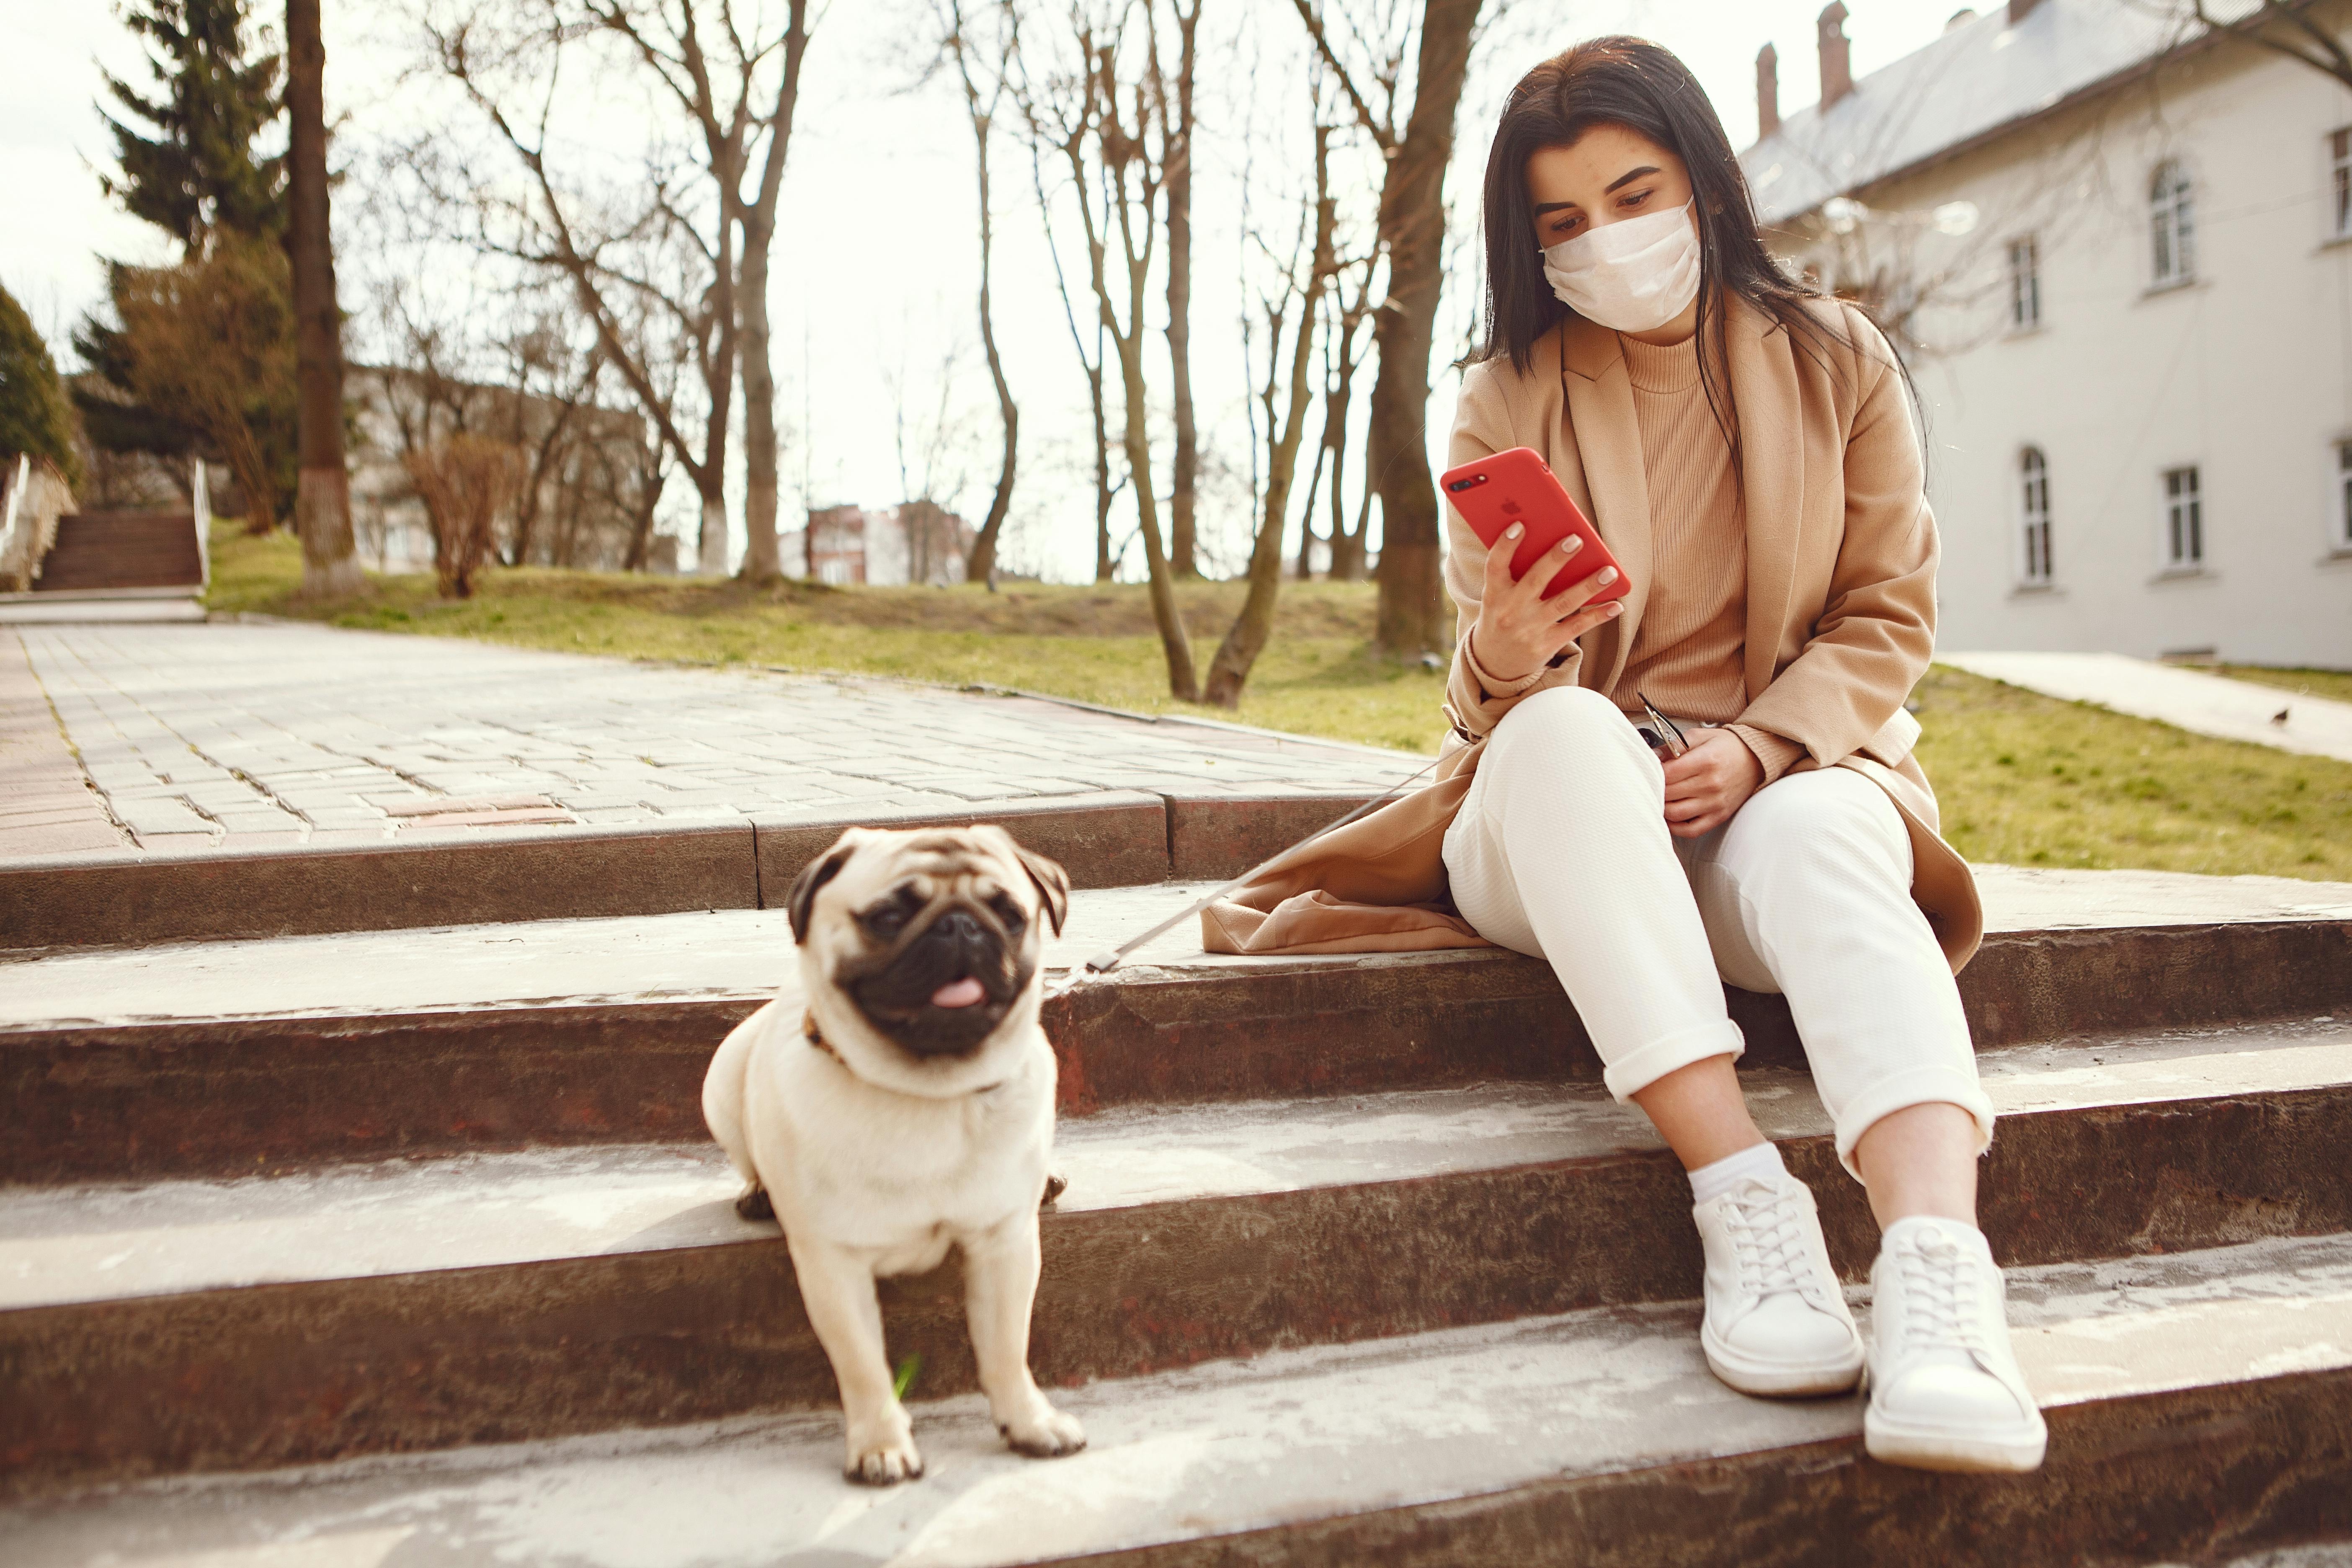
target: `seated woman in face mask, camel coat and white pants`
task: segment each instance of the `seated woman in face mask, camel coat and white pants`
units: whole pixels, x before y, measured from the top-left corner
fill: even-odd
[[[1451,461],[1534,447],[1630,592],[1590,604],[1595,574],[1545,599],[1573,541],[1512,581],[1517,529],[1489,550],[1449,517],[1442,783],[1221,905],[1209,945],[1470,940],[1399,907],[1451,891],[1479,938],[1552,964],[1609,1088],[1689,1171],[1717,1378],[1832,1394],[1867,1361],[1879,1460],[2032,1469],[2044,1425],[1976,1229],[1992,1105],[1952,980],[1980,914],[1903,710],[1936,614],[1907,378],[1860,310],[1776,268],[1715,110],[1656,45],[1531,71],[1484,216],[1489,334]],[[1644,698],[1686,752],[1644,743]],[[1719,978],[1788,997],[1884,1227],[1867,1349],[1811,1192],[1740,1100]]]

